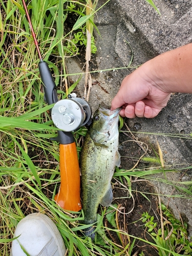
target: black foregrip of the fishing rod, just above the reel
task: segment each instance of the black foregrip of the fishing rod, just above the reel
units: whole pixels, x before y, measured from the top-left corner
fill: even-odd
[[[39,67],[41,80],[44,84],[46,101],[48,105],[51,105],[58,101],[57,87],[56,87],[55,81],[53,80],[53,77],[47,62],[40,61],[38,67]]]

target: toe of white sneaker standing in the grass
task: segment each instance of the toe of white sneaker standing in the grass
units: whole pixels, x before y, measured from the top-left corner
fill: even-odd
[[[30,256],[63,256],[65,244],[55,223],[44,214],[30,214],[21,220],[12,242],[11,256],[26,256],[22,247]],[[22,247],[21,247],[21,246]]]

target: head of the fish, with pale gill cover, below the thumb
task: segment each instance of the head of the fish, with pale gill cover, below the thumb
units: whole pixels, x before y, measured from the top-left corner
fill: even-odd
[[[121,108],[111,111],[99,105],[98,110],[94,114],[91,127],[91,138],[94,142],[104,144],[115,135],[118,136],[120,110]]]

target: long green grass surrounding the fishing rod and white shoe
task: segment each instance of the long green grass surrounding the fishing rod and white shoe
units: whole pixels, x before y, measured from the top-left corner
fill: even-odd
[[[152,4],[152,1],[147,2]],[[110,220],[120,242],[117,244],[106,236],[110,228],[103,224],[103,220],[105,216],[109,218],[109,210],[101,208],[96,241],[92,243],[83,237],[82,229],[85,227],[79,224],[83,219],[83,212],[63,211],[55,204],[54,195],[60,182],[59,145],[55,141],[50,141],[57,129],[50,119],[51,106],[47,106],[44,101],[38,56],[22,1],[0,0],[0,7],[0,254],[10,254],[17,223],[26,215],[38,211],[48,215],[56,223],[68,255],[131,255],[136,245],[135,241],[140,238],[131,240],[133,236],[121,230],[116,209],[110,209]],[[84,41],[83,44],[86,45],[83,24],[90,15],[86,15],[86,4],[80,1],[32,0],[28,8],[42,56],[54,74],[58,96],[65,98],[67,89],[71,92],[75,88],[75,85],[69,88],[68,74],[65,73],[65,57],[77,55],[81,42]],[[65,22],[71,13],[77,22],[70,32],[64,33]],[[78,36],[80,40],[77,40]],[[92,47],[95,49],[94,45]],[[81,136],[85,134],[84,128],[74,134],[78,152],[81,148]],[[150,161],[148,158],[146,160]],[[159,163],[157,157],[156,161]],[[119,183],[125,179],[132,195],[132,178],[150,181],[154,179],[153,174],[177,171],[170,168],[162,169],[161,166],[145,169],[136,166],[130,170],[117,168],[114,178]],[[183,197],[191,199],[189,182],[174,184],[164,178],[157,180],[175,186],[176,189],[183,191]],[[147,193],[140,193],[147,197]],[[175,196],[180,195],[178,193]],[[155,242],[145,242],[162,247]],[[170,249],[165,249],[170,255],[177,255]]]

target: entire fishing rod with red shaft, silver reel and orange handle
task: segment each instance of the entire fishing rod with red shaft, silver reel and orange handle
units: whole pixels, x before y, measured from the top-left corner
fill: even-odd
[[[51,109],[51,118],[54,125],[60,129],[57,137],[51,138],[51,140],[60,143],[61,183],[58,194],[54,199],[65,210],[79,211],[81,209],[80,170],[76,144],[71,132],[74,132],[80,126],[91,123],[92,110],[86,100],[77,98],[74,93],[69,94],[67,99],[58,100],[55,81],[47,62],[42,59],[25,0],[22,0],[22,2],[40,60],[38,68],[44,87],[45,100],[48,105],[55,103]]]

